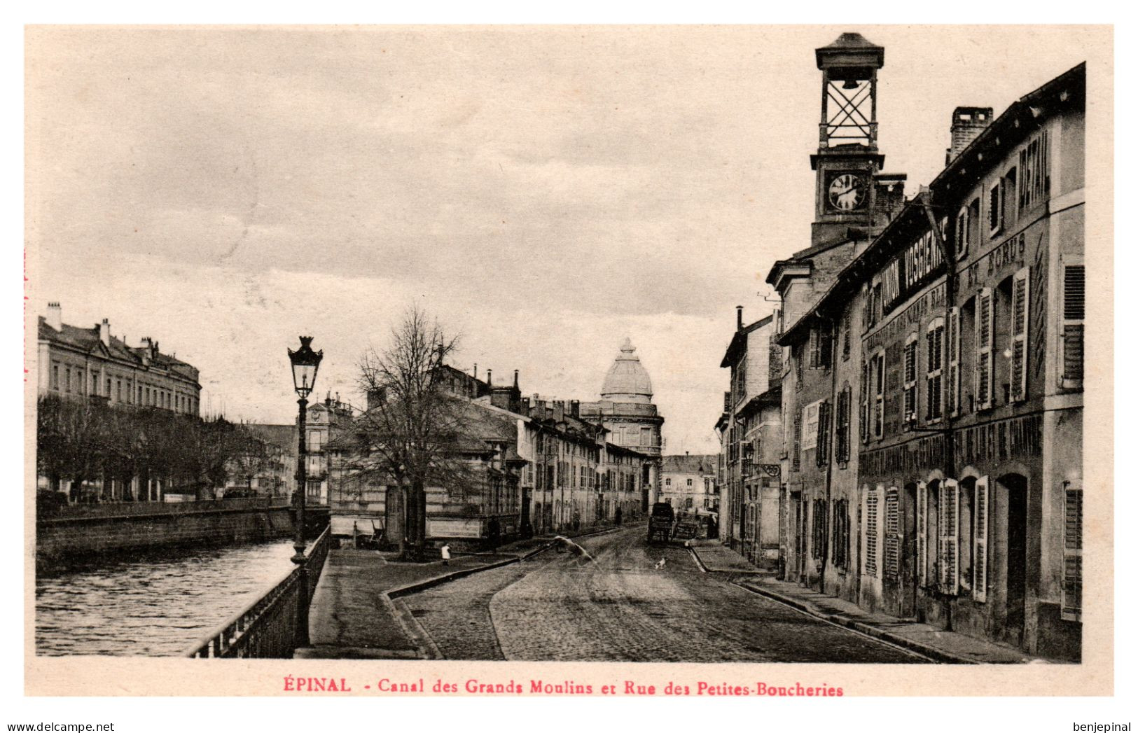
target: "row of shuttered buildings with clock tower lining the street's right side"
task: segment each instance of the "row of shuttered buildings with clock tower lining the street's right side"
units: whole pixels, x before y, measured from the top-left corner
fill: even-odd
[[[1079,659],[1085,90],[1079,65],[958,107],[914,196],[881,172],[877,71],[817,49],[810,246],[742,311],[721,439],[721,540],[863,608]]]

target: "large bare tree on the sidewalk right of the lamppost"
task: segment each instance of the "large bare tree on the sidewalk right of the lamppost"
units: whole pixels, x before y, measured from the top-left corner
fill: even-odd
[[[470,480],[462,455],[468,413],[440,379],[456,346],[456,337],[412,306],[393,328],[387,348],[371,348],[360,361],[369,406],[346,436],[354,443],[347,452],[351,480],[399,487],[406,517],[402,553],[410,560],[423,559],[427,487],[459,489]]]

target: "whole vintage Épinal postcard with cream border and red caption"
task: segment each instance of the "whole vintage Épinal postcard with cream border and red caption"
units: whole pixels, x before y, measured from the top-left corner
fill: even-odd
[[[26,694],[1113,694],[1111,27],[25,38]]]

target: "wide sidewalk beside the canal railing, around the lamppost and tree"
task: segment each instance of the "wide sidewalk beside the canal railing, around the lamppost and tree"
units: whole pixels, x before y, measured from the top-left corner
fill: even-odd
[[[442,560],[397,562],[393,552],[330,550],[308,610],[311,645],[297,649],[295,657],[421,659],[432,656],[430,639],[422,634],[403,604],[394,603],[393,599],[520,562],[550,547],[551,540],[552,536],[534,537],[503,545],[493,553],[455,555],[448,566]]]

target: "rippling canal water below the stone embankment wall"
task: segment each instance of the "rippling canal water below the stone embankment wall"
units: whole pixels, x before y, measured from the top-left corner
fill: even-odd
[[[38,654],[176,657],[292,570],[291,541],[163,550],[35,580]]]

